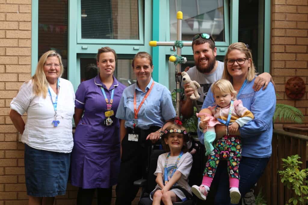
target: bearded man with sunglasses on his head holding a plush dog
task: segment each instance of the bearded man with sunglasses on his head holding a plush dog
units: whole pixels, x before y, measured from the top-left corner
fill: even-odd
[[[190,96],[193,94],[192,88],[184,86],[184,100],[181,101],[181,113],[184,118],[189,118],[193,115],[193,107],[197,107],[197,112],[200,111],[203,101],[208,93],[212,83],[218,81],[222,77],[224,70],[224,63],[216,60],[217,48],[215,47],[215,41],[209,34],[195,34],[193,36],[193,58],[195,60],[195,66],[192,68],[186,68],[190,79],[197,81],[200,84],[198,93],[200,95],[199,100],[193,101]],[[255,91],[266,88],[267,84],[271,81],[271,75],[269,73],[260,74],[254,81]]]

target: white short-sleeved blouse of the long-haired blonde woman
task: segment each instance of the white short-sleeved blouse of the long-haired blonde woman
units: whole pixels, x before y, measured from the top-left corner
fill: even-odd
[[[70,81],[60,78],[57,104],[57,120],[54,127],[55,111],[50,94],[44,99],[43,95],[35,96],[32,80],[25,82],[17,96],[11,101],[10,107],[20,115],[27,112],[25,131],[21,141],[28,146],[52,152],[69,153],[73,148],[72,119],[75,110],[75,93]],[[52,100],[55,102],[56,93],[49,86]]]

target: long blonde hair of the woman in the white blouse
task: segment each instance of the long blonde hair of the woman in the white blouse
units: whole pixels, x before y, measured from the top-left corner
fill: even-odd
[[[43,97],[46,98],[47,96],[47,89],[49,86],[49,83],[46,79],[46,75],[44,73],[44,64],[47,61],[48,57],[53,57],[56,56],[59,59],[60,62],[60,76],[62,76],[64,68],[62,65],[62,58],[59,53],[57,53],[55,50],[50,50],[44,53],[38,62],[38,65],[36,67],[35,74],[30,78],[33,83],[33,92],[35,93],[36,96],[40,96],[43,94]]]

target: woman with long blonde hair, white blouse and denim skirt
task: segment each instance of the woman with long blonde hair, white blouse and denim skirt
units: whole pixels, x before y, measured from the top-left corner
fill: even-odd
[[[29,205],[52,205],[66,191],[75,93],[71,82],[61,78],[63,70],[59,53],[47,51],[10,103],[10,118],[25,144]]]

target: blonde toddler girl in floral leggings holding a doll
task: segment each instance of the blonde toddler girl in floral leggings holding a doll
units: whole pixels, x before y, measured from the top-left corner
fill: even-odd
[[[193,185],[192,191],[199,199],[206,199],[219,160],[224,158],[228,160],[231,203],[237,204],[241,199],[241,194],[238,190],[240,179],[238,166],[242,151],[241,137],[229,135],[229,132],[237,132],[239,127],[253,120],[253,114],[243,106],[241,100],[236,100],[236,91],[230,81],[219,80],[215,82],[211,87],[211,91],[216,105],[213,107],[209,106],[202,109],[200,113],[197,113],[201,121],[199,126],[204,128],[206,155],[210,155],[204,170],[202,184],[200,187]],[[225,124],[228,134],[212,145],[216,138],[215,124]]]

